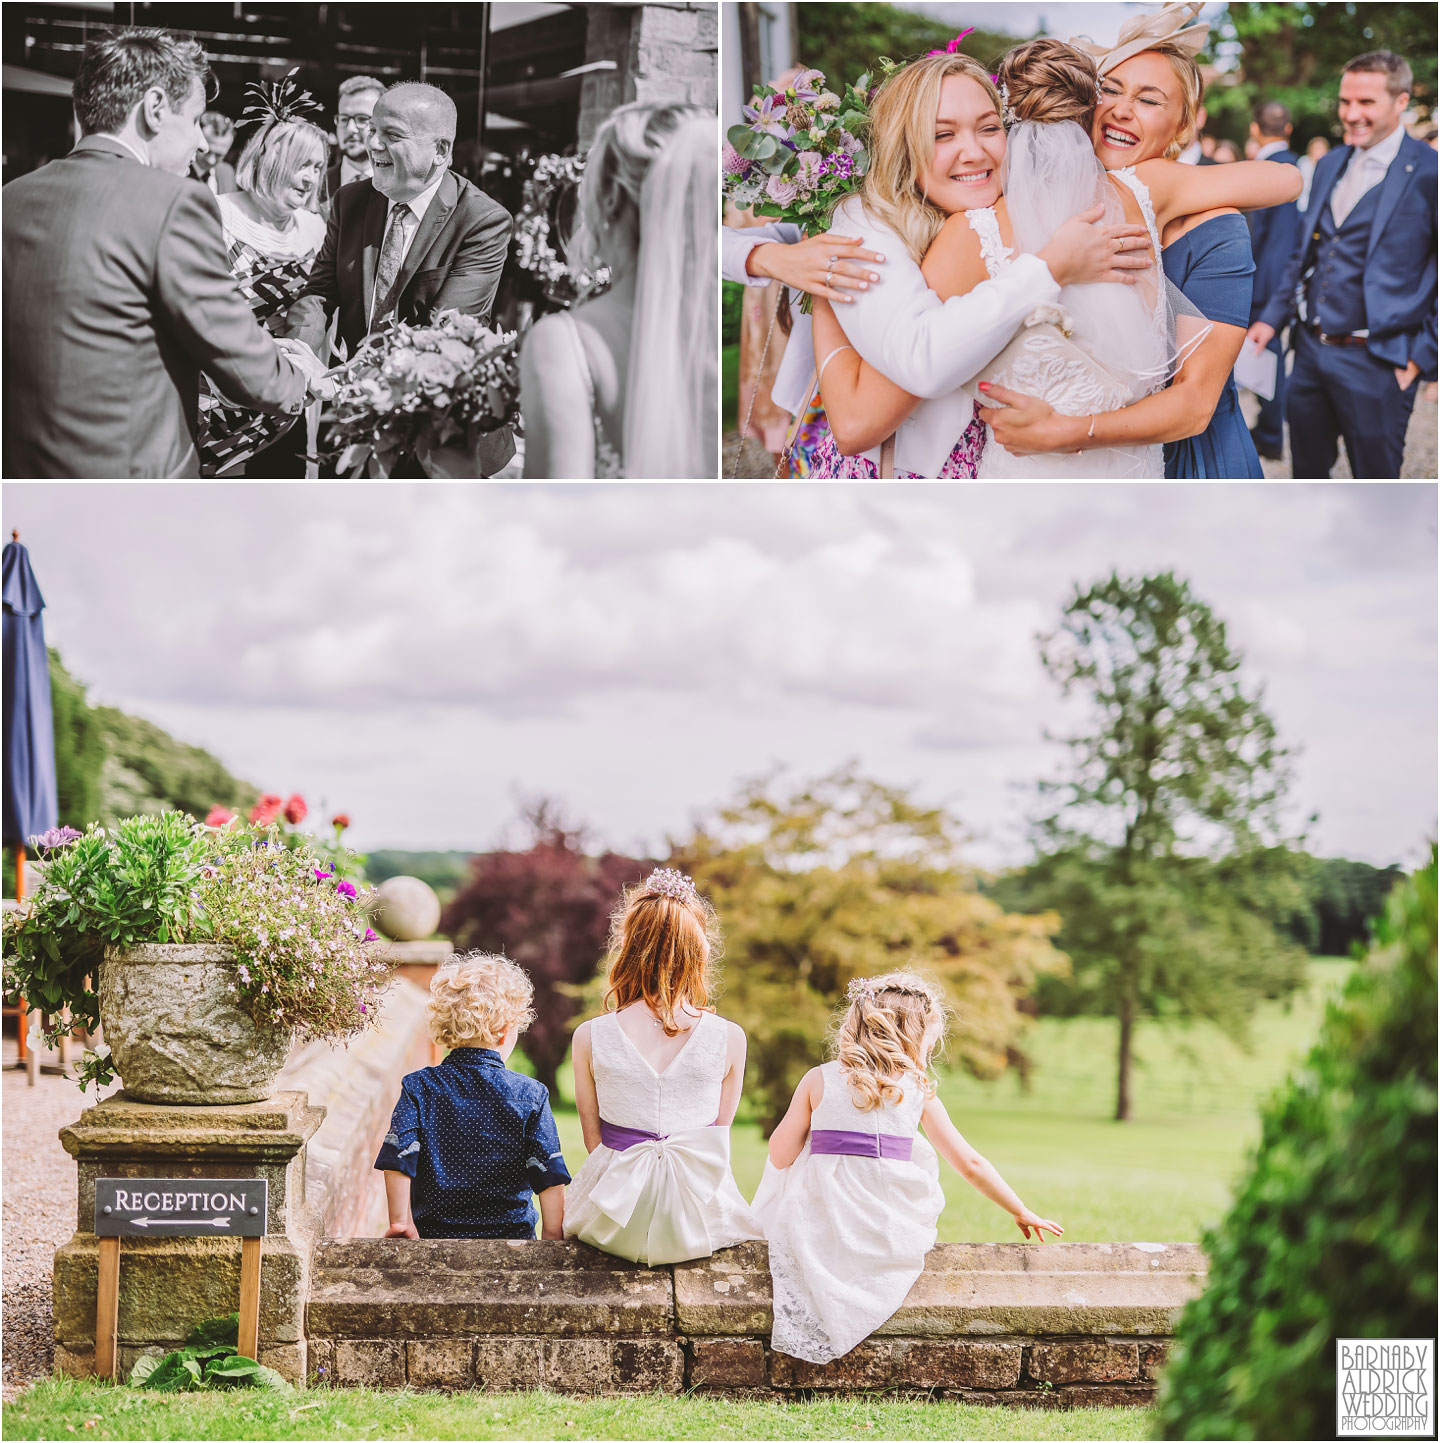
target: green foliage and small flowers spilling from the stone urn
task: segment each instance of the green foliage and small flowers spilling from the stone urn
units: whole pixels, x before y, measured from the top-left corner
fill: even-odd
[[[205,827],[170,811],[58,828],[32,844],[42,857],[35,890],[3,922],[4,987],[46,1016],[49,1046],[75,1026],[100,1026],[91,983],[105,948],[147,942],[235,948],[247,1009],[302,1040],[374,1023],[390,965],[368,945],[377,937],[366,898],[278,828]],[[81,1088],[113,1078],[107,1046],[85,1053]]]

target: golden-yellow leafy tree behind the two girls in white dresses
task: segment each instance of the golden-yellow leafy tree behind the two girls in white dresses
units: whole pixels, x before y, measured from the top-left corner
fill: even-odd
[[[775,797],[760,781],[677,847],[724,934],[720,1007],[749,1033],[746,1101],[766,1133],[854,977],[916,965],[958,1012],[948,1059],[997,1076],[1029,1027],[1019,1009],[1062,971],[1053,915],[1014,916],[961,864],[955,823],[848,771]]]

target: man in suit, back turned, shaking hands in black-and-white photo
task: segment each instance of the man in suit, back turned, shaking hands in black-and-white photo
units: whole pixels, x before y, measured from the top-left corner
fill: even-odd
[[[300,413],[307,377],[323,388],[257,325],[188,179],[211,79],[166,30],[91,42],[79,141],[6,186],[6,476],[198,476],[201,371],[271,414]]]

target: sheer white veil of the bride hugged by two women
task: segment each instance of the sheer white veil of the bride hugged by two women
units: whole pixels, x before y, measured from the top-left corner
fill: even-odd
[[[1006,209],[1019,250],[1043,250],[1072,215],[1104,205],[1101,225],[1125,212],[1091,137],[1075,121],[1016,121],[1001,169]],[[1205,317],[1172,286],[1154,257],[1136,286],[1105,281],[1065,286],[1061,306],[1075,322],[1075,343],[1138,398],[1164,385],[1203,335]]]

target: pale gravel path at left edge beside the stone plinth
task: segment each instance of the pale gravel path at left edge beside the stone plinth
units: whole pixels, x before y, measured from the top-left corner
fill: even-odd
[[[4,1303],[0,1346],[4,1351],[4,1401],[51,1375],[55,1323],[51,1268],[55,1250],[75,1231],[75,1160],[61,1147],[59,1130],[95,1102],[62,1076],[42,1074],[26,1087],[14,1063],[14,1040],[4,1048],[3,1258]],[[111,1089],[114,1091],[114,1089]]]

